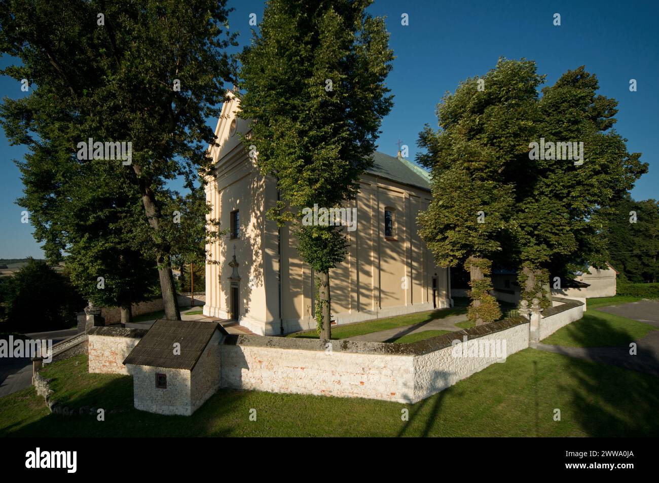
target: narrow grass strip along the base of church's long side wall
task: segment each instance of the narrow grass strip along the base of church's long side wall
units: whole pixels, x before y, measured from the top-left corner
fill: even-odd
[[[467,308],[440,308],[438,310],[430,310],[428,312],[416,312],[414,314],[368,320],[367,322],[358,322],[357,324],[346,324],[345,326],[332,327],[331,338],[345,339],[346,337],[354,337],[355,335],[364,335],[366,333],[379,332],[386,329],[395,329],[396,327],[422,324],[423,322],[430,322],[430,320],[442,319],[457,314],[467,314]],[[318,334],[315,330],[311,330],[291,333],[287,335],[287,337],[318,339]]]

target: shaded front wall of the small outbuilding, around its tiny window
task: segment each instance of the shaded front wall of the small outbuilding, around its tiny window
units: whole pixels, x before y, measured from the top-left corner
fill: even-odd
[[[135,409],[158,414],[190,416],[190,371],[165,367],[136,366],[129,364],[133,378]],[[167,388],[156,387],[156,374],[167,374]],[[195,408],[196,409],[196,408]]]

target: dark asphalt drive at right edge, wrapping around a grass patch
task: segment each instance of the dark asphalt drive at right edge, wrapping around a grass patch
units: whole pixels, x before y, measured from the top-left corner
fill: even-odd
[[[598,308],[601,312],[616,314],[659,327],[659,301],[640,300],[629,304]],[[629,354],[629,345],[615,347],[564,347],[561,345],[537,344],[541,351],[576,357],[602,364],[623,367],[659,376],[659,331],[652,331],[637,344],[636,355]]]

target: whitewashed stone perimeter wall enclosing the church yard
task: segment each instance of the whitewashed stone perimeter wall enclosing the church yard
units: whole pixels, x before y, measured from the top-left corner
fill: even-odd
[[[583,315],[581,302],[562,300],[542,317],[541,338]],[[126,333],[103,333],[110,330]],[[145,332],[94,327],[89,337],[90,372],[129,374],[122,362]],[[454,340],[459,342],[454,344]],[[496,352],[503,349],[504,342],[505,357],[529,347],[529,321],[523,317],[502,320],[412,344],[332,341],[331,350],[314,339],[228,335],[218,346],[221,363],[217,371],[220,387],[416,403],[491,364],[504,362]],[[476,353],[472,354],[474,347]],[[481,347],[489,348],[489,355]],[[144,374],[144,384],[154,384],[155,372]],[[208,370],[203,373],[203,379],[210,381]],[[196,409],[194,401],[201,401],[211,391],[207,385],[202,384],[205,389],[196,395],[190,394],[195,396],[191,397],[191,411]]]

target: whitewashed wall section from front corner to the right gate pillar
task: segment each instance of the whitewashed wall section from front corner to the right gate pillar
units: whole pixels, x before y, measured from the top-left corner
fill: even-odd
[[[505,358],[501,360],[496,357],[497,354],[507,357],[522,349],[527,349],[529,347],[529,324],[520,324],[468,340],[466,347],[461,335],[456,339],[461,342],[455,347],[445,347],[439,351],[415,356],[415,387],[411,402],[416,403],[416,401],[438,393],[491,364],[505,363]],[[504,341],[505,345],[503,345]],[[503,351],[504,348],[505,351]],[[497,352],[497,349],[500,349],[500,352]],[[476,351],[476,356],[470,356],[470,353],[473,355],[472,351]],[[490,357],[486,355],[490,355]]]

